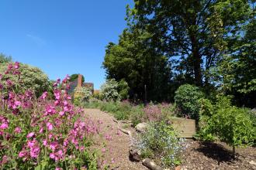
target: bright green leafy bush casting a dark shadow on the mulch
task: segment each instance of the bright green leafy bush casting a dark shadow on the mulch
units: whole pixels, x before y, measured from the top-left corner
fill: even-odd
[[[217,97],[216,104],[202,100],[201,138],[217,137],[227,145],[252,145],[256,140],[255,118],[246,108],[231,106],[229,97]],[[212,138],[212,139],[213,139]]]

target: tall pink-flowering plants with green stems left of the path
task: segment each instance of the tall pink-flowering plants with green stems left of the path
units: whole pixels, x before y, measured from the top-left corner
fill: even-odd
[[[5,74],[20,84],[8,79],[0,86],[6,92],[0,96],[0,168],[96,169],[95,155],[88,151],[96,128],[81,121],[82,110],[71,104],[68,76],[54,83],[54,100],[49,100],[47,92],[37,98],[32,90],[19,90],[26,85],[19,63],[11,63]]]

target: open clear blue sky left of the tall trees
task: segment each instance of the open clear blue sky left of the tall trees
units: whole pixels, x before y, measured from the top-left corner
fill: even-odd
[[[51,80],[81,73],[95,89],[108,42],[126,27],[132,0],[1,0],[0,53],[39,67]]]

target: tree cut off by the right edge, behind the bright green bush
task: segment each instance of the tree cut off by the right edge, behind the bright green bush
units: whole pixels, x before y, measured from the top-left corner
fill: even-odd
[[[254,10],[243,29],[244,36],[218,65],[219,81],[224,93],[233,95],[239,106],[256,106],[256,20]]]

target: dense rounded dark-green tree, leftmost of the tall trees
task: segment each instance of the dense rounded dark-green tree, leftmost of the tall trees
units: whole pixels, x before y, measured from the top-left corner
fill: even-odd
[[[109,42],[103,67],[107,77],[125,80],[130,87],[130,97],[144,99],[145,86],[149,100],[167,98],[170,66],[166,56],[150,46],[152,35],[132,26],[119,36],[119,43]]]

